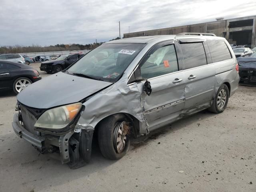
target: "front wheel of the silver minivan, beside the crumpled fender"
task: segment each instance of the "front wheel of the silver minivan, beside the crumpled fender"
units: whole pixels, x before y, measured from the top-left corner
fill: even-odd
[[[100,151],[105,158],[117,160],[122,158],[126,152],[128,152],[130,148],[130,127],[128,126],[128,123],[129,122],[124,114],[115,114],[100,122],[98,127],[98,144]],[[118,130],[122,129],[124,126],[128,128],[128,130],[126,133],[122,132],[122,134],[120,134]],[[120,139],[120,142],[118,142],[118,138]]]

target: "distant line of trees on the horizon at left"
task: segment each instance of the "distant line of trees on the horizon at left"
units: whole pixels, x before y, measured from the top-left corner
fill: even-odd
[[[119,37],[112,39],[117,40]],[[110,41],[112,41],[110,40]],[[50,46],[40,46],[40,45],[32,45],[32,46],[1,46],[0,54],[2,53],[33,53],[33,52],[53,52],[53,51],[74,51],[74,50],[91,50],[96,46],[99,46],[104,42],[92,43],[92,44],[56,44]]]

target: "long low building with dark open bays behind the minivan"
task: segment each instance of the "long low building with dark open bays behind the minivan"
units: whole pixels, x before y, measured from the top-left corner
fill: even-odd
[[[216,18],[213,22],[126,33],[124,38],[143,35],[174,35],[182,32],[213,33],[226,38],[230,44],[251,45],[254,48],[256,46],[256,16],[227,20]]]

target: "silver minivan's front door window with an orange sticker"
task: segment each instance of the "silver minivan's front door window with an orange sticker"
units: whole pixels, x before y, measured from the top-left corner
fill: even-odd
[[[142,78],[153,78],[178,71],[174,45],[158,48],[140,65]]]

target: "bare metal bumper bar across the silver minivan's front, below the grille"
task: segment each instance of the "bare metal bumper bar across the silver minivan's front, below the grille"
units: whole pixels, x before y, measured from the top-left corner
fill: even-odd
[[[26,130],[19,122],[19,118],[18,118],[18,113],[14,114],[13,117],[13,122],[12,122],[12,128],[14,130],[14,132],[20,137],[23,138],[24,140],[28,141],[29,143],[31,143],[33,146],[36,146],[36,148],[38,148],[40,151],[44,150],[44,141],[45,138],[40,137],[40,136],[36,136],[30,132],[28,132],[28,130]]]

